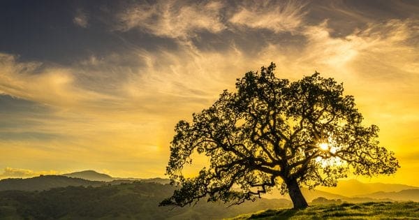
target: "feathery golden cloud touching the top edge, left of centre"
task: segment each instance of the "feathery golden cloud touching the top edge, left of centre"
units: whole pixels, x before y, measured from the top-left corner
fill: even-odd
[[[226,27],[221,22],[221,2],[184,4],[182,1],[140,3],[117,15],[121,25],[117,29],[140,29],[149,34],[168,38],[188,38],[196,31],[217,33]]]

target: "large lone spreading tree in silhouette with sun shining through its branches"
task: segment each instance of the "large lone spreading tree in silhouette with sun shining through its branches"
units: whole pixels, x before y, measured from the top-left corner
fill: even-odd
[[[166,170],[180,187],[160,205],[182,207],[200,198],[236,205],[279,186],[294,208],[304,208],[300,186],[336,186],[349,172],[396,172],[394,153],[378,146],[377,126],[362,126],[342,84],[317,72],[289,82],[276,78],[274,68],[246,73],[237,91],[224,90],[191,123],[177,123]],[[182,169],[193,152],[205,154],[209,167],[186,178]]]

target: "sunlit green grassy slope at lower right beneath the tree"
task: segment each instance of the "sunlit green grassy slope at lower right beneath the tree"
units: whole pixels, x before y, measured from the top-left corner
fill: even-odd
[[[265,210],[233,219],[419,219],[419,203],[314,205],[305,210]]]

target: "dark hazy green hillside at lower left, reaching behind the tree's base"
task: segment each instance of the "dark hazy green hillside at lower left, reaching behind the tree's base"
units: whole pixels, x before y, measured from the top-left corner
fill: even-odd
[[[222,219],[291,207],[291,201],[281,199],[260,199],[229,208],[206,200],[191,207],[159,207],[159,202],[171,196],[174,189],[168,184],[133,182],[40,192],[0,191],[0,219]]]

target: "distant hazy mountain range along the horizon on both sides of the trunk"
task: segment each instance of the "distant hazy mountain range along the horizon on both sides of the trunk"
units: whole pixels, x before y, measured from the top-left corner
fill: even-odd
[[[1,179],[0,191],[43,191],[66,186],[103,186],[106,184],[116,185],[135,181],[159,184],[168,184],[170,182],[169,179],[163,178],[139,179],[111,177],[110,175],[97,173],[94,170],[84,170],[64,175],[41,175],[27,179]],[[362,183],[355,179],[341,181],[337,187],[319,187],[316,190],[302,189],[302,193],[308,202],[319,197],[329,200],[342,200],[349,203],[383,200],[419,201],[419,187],[404,184]],[[289,196],[282,196],[278,190],[265,194],[263,198],[290,200]]]

